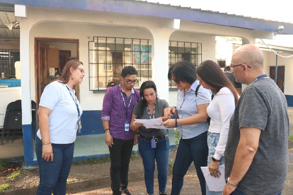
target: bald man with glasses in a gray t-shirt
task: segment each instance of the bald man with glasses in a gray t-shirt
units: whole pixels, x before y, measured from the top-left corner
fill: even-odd
[[[288,170],[289,117],[284,94],[264,73],[255,45],[238,48],[230,68],[247,84],[230,119],[223,195],[280,195]],[[241,64],[242,63],[242,64]]]

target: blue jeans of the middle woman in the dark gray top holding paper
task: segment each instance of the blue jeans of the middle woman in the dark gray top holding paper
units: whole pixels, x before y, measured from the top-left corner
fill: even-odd
[[[165,193],[168,177],[169,140],[161,139],[156,143],[156,148],[151,148],[150,141],[139,137],[138,150],[143,158],[147,194],[154,194],[155,159],[158,169],[159,191]]]

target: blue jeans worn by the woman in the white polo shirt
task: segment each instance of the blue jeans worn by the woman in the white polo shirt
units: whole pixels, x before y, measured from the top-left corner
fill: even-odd
[[[73,159],[74,142],[69,144],[54,144],[53,161],[42,158],[42,140],[36,138],[36,155],[40,169],[40,184],[37,195],[65,195],[66,182]]]

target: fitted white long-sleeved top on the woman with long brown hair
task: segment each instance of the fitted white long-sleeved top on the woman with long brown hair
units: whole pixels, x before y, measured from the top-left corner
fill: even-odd
[[[234,113],[235,101],[231,90],[223,87],[213,97],[207,108],[210,119],[209,132],[220,134],[218,145],[215,149],[214,158],[224,156],[228,138],[230,118]]]

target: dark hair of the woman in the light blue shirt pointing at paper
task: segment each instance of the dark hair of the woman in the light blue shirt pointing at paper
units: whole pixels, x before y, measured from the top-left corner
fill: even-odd
[[[195,66],[186,60],[180,60],[174,63],[168,71],[168,80],[175,77],[176,82],[180,80],[192,84],[196,80]]]

